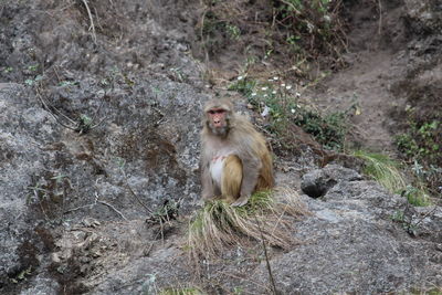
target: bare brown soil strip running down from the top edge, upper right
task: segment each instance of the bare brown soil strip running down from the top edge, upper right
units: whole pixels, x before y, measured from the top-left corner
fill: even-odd
[[[366,149],[394,156],[394,119],[390,109],[398,106],[391,86],[407,70],[403,52],[404,24],[400,19],[402,6],[389,3],[379,12],[373,2],[362,1],[354,10],[348,34],[348,67],[330,74],[309,91],[315,104],[327,112],[352,114],[351,148]]]

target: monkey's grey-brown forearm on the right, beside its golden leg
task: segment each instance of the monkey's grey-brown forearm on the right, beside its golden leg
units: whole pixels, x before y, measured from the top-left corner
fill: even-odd
[[[240,198],[232,203],[233,207],[241,207],[248,203],[253,190],[256,187],[261,169],[261,160],[255,156],[245,157],[242,160],[242,183]]]

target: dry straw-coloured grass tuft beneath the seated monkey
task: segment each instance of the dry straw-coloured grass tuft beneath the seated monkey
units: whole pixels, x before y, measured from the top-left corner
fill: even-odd
[[[215,256],[225,246],[244,239],[265,240],[288,249],[293,243],[290,221],[308,214],[298,194],[286,188],[254,193],[244,207],[231,207],[222,200],[208,202],[191,221],[188,245],[191,256]]]

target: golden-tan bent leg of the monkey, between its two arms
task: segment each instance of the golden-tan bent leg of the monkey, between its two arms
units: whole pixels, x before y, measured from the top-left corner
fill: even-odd
[[[238,156],[230,155],[224,159],[221,177],[221,194],[229,202],[234,202],[241,193],[242,162]]]

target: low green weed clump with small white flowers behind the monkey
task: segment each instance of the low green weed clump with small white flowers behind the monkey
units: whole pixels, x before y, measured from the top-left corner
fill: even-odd
[[[267,130],[281,141],[291,136],[291,125],[299,126],[327,149],[343,150],[348,122],[346,112],[323,115],[314,107],[301,102],[301,93],[280,77],[259,83],[240,76],[229,89],[248,97],[252,107],[267,119]]]

